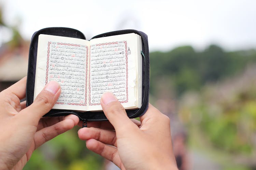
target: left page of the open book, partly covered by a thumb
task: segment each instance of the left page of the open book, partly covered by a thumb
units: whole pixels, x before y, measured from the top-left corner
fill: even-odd
[[[49,81],[57,81],[61,94],[53,108],[86,111],[89,41],[39,35],[34,99]]]

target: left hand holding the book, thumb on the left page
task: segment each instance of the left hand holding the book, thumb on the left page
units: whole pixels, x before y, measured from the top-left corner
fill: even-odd
[[[41,118],[60,95],[57,82],[49,82],[29,107],[20,103],[25,89],[23,78],[0,92],[0,169],[22,169],[36,148],[79,122],[75,115]]]

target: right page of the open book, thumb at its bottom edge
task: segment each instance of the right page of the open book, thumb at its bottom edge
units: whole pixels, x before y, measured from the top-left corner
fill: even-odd
[[[138,107],[137,41],[134,33],[90,40],[89,110],[102,109],[100,98],[107,91],[125,108]]]

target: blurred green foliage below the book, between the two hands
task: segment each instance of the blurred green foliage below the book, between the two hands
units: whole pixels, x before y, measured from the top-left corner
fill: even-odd
[[[80,140],[77,136],[78,129],[79,127],[75,127],[35,150],[24,170],[102,169],[103,158],[86,149],[85,141]]]

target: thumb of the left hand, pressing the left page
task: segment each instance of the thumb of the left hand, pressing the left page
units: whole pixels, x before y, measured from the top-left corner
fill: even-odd
[[[52,109],[59,98],[60,92],[59,83],[55,81],[49,82],[35,98],[34,102],[20,111],[19,115],[26,117],[28,121],[38,123],[39,119]]]

